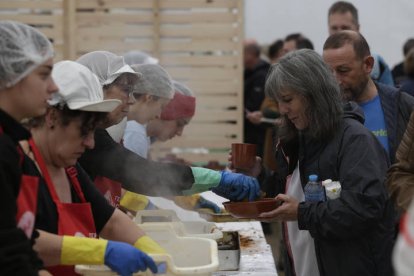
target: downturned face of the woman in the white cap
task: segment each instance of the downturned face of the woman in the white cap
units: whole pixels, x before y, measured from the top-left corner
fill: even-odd
[[[66,126],[55,124],[48,135],[49,153],[55,166],[73,166],[86,149],[95,146],[94,130],[82,134],[81,127],[80,118],[72,119]]]

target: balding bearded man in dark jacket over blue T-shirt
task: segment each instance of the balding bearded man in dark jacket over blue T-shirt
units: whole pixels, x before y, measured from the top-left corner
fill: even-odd
[[[393,163],[414,98],[371,79],[374,58],[360,33],[341,31],[331,35],[324,44],[323,58],[334,71],[344,98],[357,102],[364,110],[364,125],[378,138]]]

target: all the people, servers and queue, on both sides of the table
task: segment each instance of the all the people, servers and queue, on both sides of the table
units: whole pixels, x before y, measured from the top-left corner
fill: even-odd
[[[331,6],[328,29],[321,55],[301,33],[270,45],[269,62],[245,41],[244,141],[258,157],[239,173],[151,160],[151,144],[180,136],[196,109],[156,58],[54,63],[44,34],[0,21],[0,275],[156,273],[151,255],[166,251],[128,213],[154,208],[147,196],[220,212],[208,190],[275,197],[259,219],[281,223],[285,275],[413,274],[414,40],[390,70],[351,3]],[[306,200],[314,174],[340,194]]]

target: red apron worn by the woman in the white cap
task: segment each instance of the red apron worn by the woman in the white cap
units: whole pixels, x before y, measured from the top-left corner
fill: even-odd
[[[77,178],[77,171],[75,167],[66,168],[66,173],[69,176],[70,182],[75,189],[76,194],[80,198],[81,203],[60,202],[43,157],[40,155],[40,152],[32,139],[29,140],[29,144],[32,148],[36,162],[43,174],[43,178],[45,179],[52,200],[56,204],[58,213],[58,235],[96,238],[96,228],[93,220],[91,204],[85,200],[85,196],[83,195]],[[53,275],[78,275],[75,273],[73,266],[53,266],[47,267],[47,270]]]

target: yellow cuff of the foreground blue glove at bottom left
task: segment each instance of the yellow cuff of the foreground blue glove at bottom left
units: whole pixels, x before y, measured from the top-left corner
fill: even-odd
[[[107,240],[63,236],[60,262],[62,265],[103,264]]]

